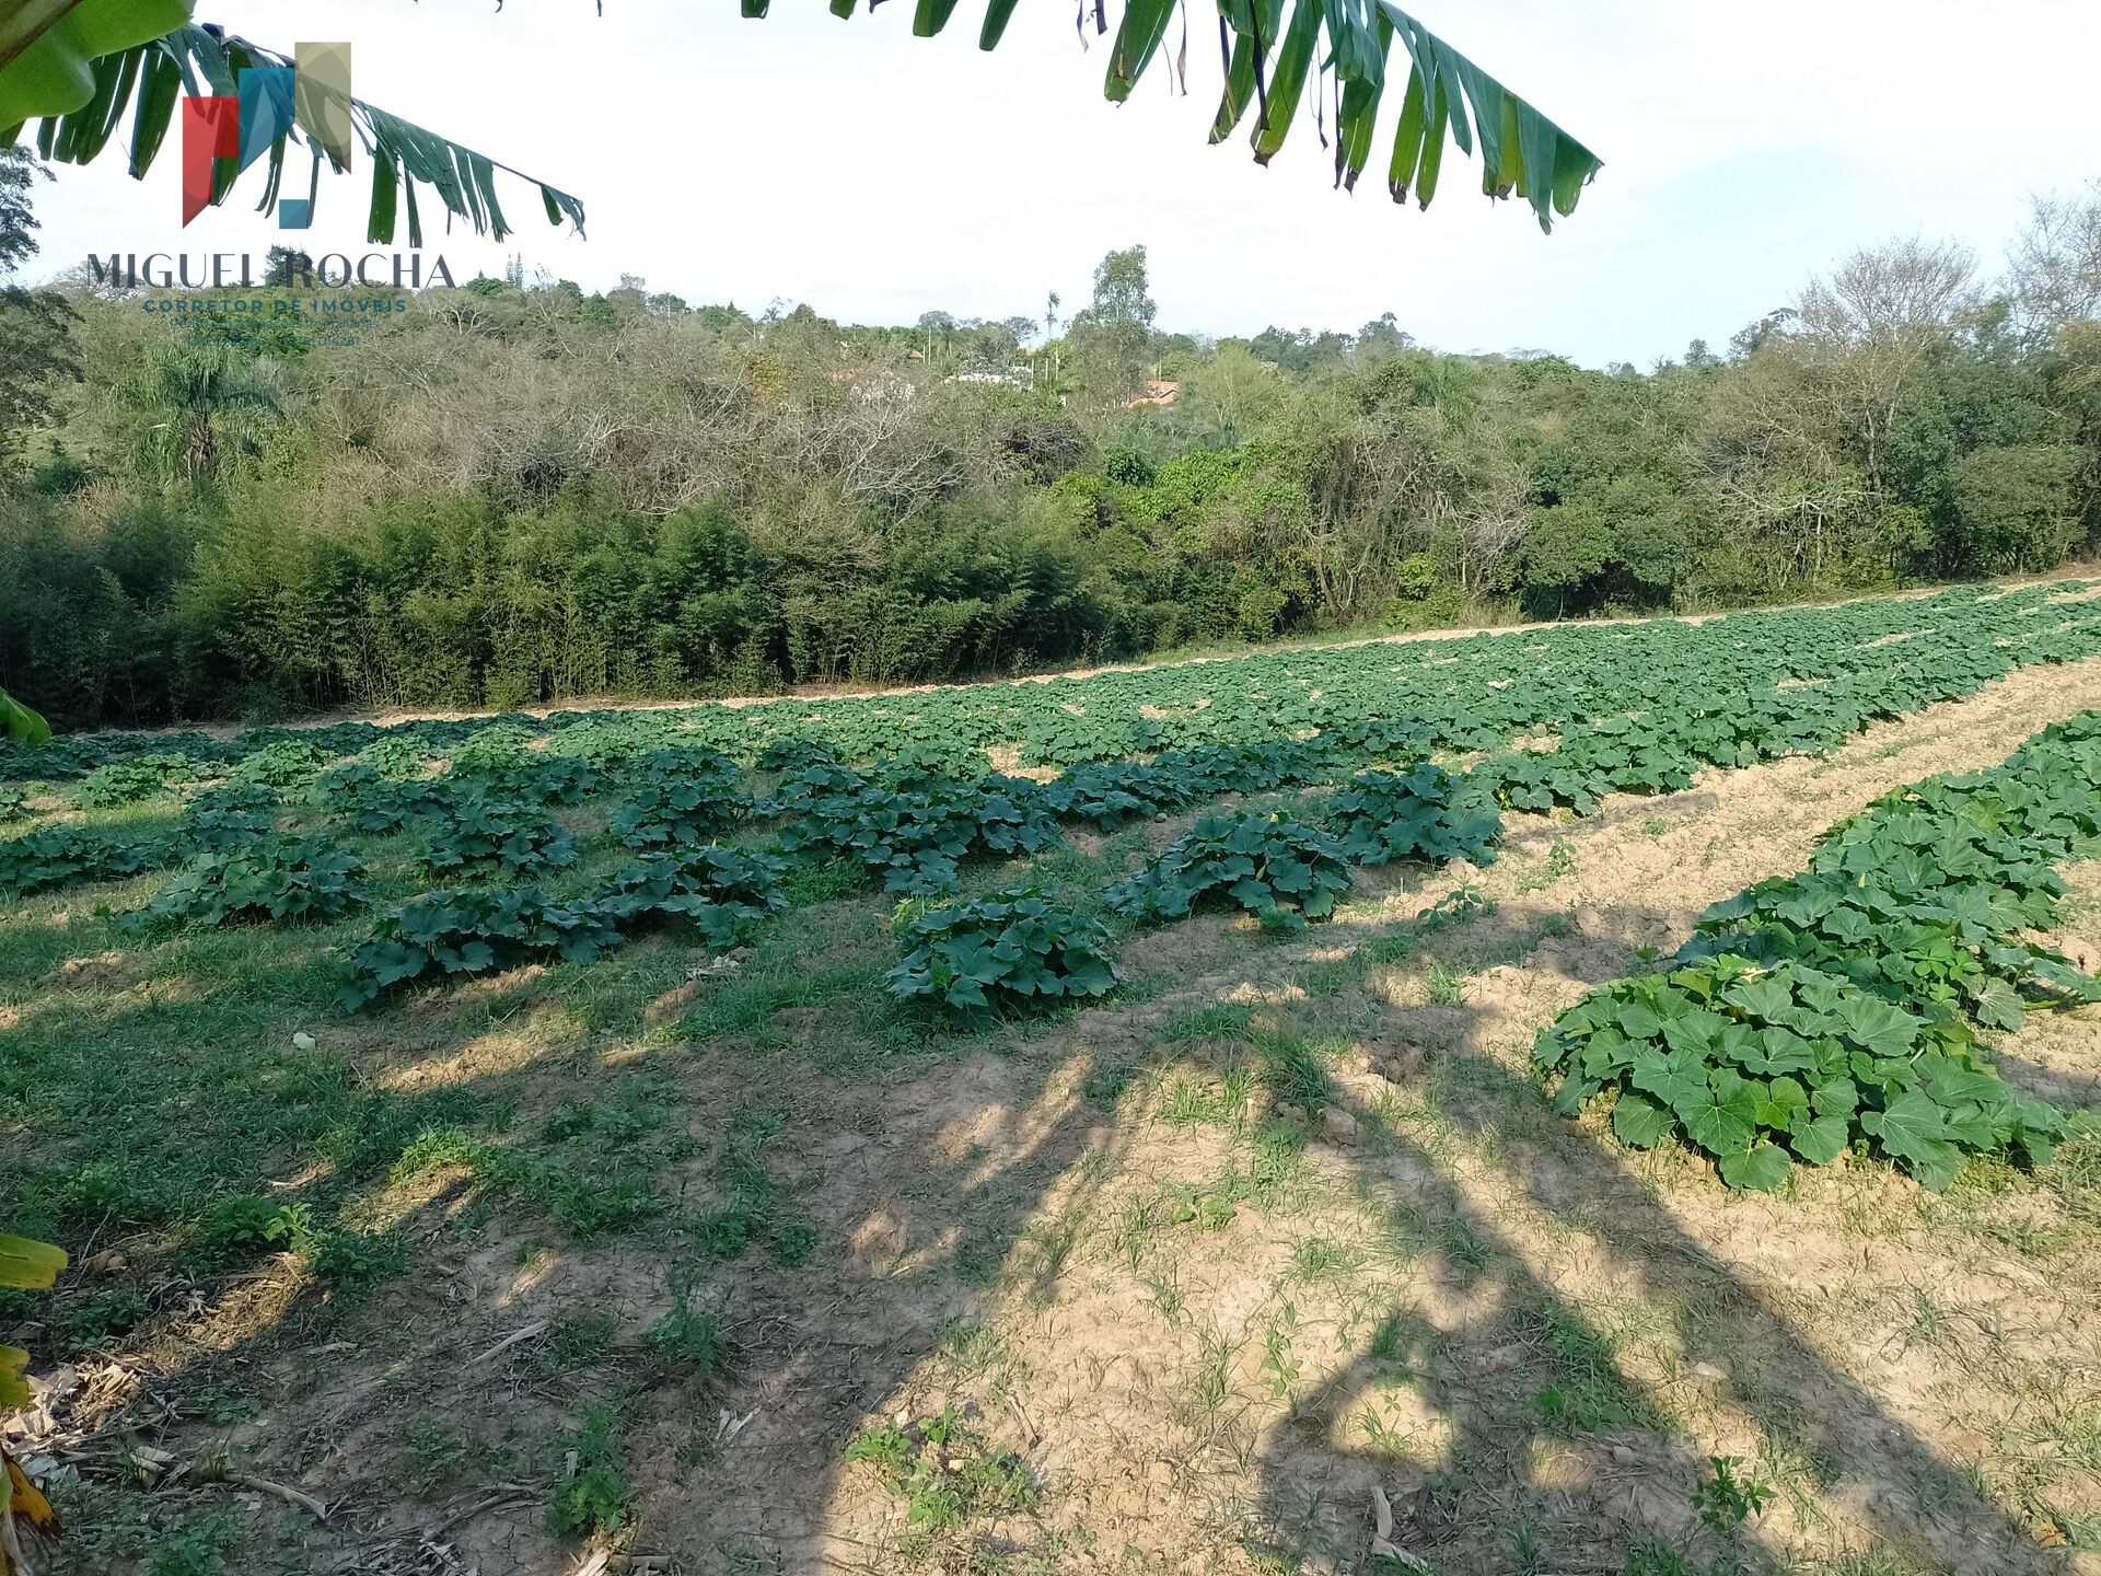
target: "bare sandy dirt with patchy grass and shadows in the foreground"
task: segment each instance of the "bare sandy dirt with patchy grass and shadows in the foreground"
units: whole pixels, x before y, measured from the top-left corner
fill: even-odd
[[[2101,1147],[1939,1198],[1878,1164],[1744,1196],[1527,1076],[1588,986],[1832,822],[2095,706],[2101,660],[2032,668],[1826,761],[1511,817],[1488,870],[1374,872],[1286,941],[1149,933],[1109,1004],[987,1036],[885,1028],[874,897],[735,971],[645,943],[353,1028],[256,962],[221,1002],[242,1032],[494,1101],[592,1202],[645,1175],[677,1208],[565,1231],[550,1173],[439,1145],[359,1189],[416,1244],[376,1294],[273,1259],[153,1290],[17,1439],[78,1528],[48,1568],[2095,1576]],[[1174,830],[1038,864],[1099,880]],[[2080,893],[2061,939],[2101,956]],[[65,958],[53,918],[0,1028],[124,1034],[200,990],[181,956]],[[2101,1009],[2032,1017],[2002,1065],[2101,1110]],[[97,1246],[109,1276],[151,1250]],[[945,1408],[987,1484],[954,1528],[847,1460]],[[1773,1494],[1740,1534],[1698,1513],[1714,1456]],[[599,1460],[620,1532],[557,1536],[548,1484]]]

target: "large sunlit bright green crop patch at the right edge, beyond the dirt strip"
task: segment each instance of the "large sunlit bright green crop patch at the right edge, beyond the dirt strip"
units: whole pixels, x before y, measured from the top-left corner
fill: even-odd
[[[2046,1164],[2063,1112],[1979,1061],[1962,1013],[2019,1028],[2023,992],[2101,1000],[2025,939],[2057,916],[2053,866],[2101,847],[2101,714],[2053,725],[1996,771],[1929,780],[1838,826],[1803,876],[1714,906],[1679,967],[1578,1002],[1538,1042],[1574,1116],[1683,1133],[1733,1187],[1872,1145],[1927,1187],[1964,1156]]]

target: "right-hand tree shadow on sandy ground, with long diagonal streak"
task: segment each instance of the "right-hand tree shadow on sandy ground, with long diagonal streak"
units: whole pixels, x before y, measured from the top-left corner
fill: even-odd
[[[1649,935],[1660,916],[1620,908],[1603,918],[1614,933]],[[1500,918],[1479,925],[1488,929],[1475,943],[1488,950],[1523,939],[1498,935]],[[1620,973],[1626,967],[1607,962],[1576,977],[1597,986]],[[1395,1009],[1395,1015],[1406,1019],[1408,1011]],[[1303,1452],[1292,1446],[1307,1433],[1343,1435],[1336,1423],[1376,1399],[1380,1383],[1401,1374],[1450,1429],[1435,1465],[1361,1446],[1330,1446],[1328,1456],[1412,1490],[1395,1500],[1401,1517],[1395,1542],[1431,1555],[1439,1570],[1504,1572],[1521,1553],[1513,1553],[1511,1542],[1492,1547],[1496,1538],[1483,1534],[1479,1502],[1466,1505],[1454,1498],[1456,1492],[1488,1505],[1502,1500],[1515,1515],[1509,1536],[1519,1540],[1536,1536],[1523,1528],[1523,1517],[1538,1517],[1553,1555],[1572,1553],[1565,1540],[1580,1536],[1576,1528],[1595,1523],[1597,1513],[1622,1526],[1628,1540],[1656,1534],[1714,1549],[1712,1534],[1698,1530],[1689,1502],[1704,1463],[1674,1425],[1668,1389],[1653,1376],[1628,1372],[1584,1305],[1527,1263],[1538,1257],[1544,1225],[1578,1233],[1603,1252],[1593,1271],[1601,1301],[1641,1299],[1668,1311],[1679,1351],[1687,1364],[1702,1364],[1702,1387],[1735,1408],[1777,1448],[1775,1454],[1803,1469],[1805,1498],[1845,1500],[1885,1551],[1922,1570],[2053,1570],[2030,1528],[1981,1492],[1975,1471],[1950,1463],[1859,1381],[1834,1370],[1798,1332],[1803,1309],[1777,1305],[1773,1292],[1696,1240],[1641,1175],[1643,1166],[1614,1154],[1607,1139],[1557,1118],[1540,1088],[1511,1065],[1513,1055],[1519,1053],[1490,1040],[1481,1013],[1469,1013],[1448,1055],[1431,1070],[1441,1095],[1435,1099],[1439,1122],[1490,1147],[1506,1179],[1509,1200],[1498,1208],[1473,1198],[1450,1164],[1401,1133],[1391,1135],[1391,1149],[1376,1164],[1370,1158],[1353,1164],[1364,1185],[1385,1196],[1393,1189],[1382,1187],[1380,1170],[1391,1173],[1395,1160],[1403,1173],[1422,1177],[1418,1196],[1399,1208],[1403,1229],[1433,1254],[1429,1273],[1458,1286],[1492,1273],[1502,1282],[1502,1303],[1517,1315],[1441,1330],[1395,1307],[1397,1347],[1429,1351],[1431,1362],[1395,1364],[1372,1349],[1359,1351],[1307,1412],[1269,1431],[1263,1502],[1275,1521],[1301,1528],[1315,1521],[1307,1505],[1319,1492],[1315,1479],[1324,1469],[1305,1467]],[[1704,1185],[1721,1196],[1719,1181]],[[1750,1200],[1735,1206],[1746,1223],[1765,1212]],[[1458,1233],[1458,1252],[1450,1240],[1437,1240],[1439,1229]],[[1530,1399],[1498,1399],[1509,1383],[1490,1383],[1483,1393],[1483,1372],[1513,1368]],[[1538,1448],[1572,1452],[1574,1471],[1563,1463],[1542,1475]],[[1532,1490],[1515,1496],[1530,1500],[1525,1509],[1509,1505],[1511,1488]],[[1590,1515],[1572,1515],[1578,1500]],[[1330,1555],[1361,1555],[1366,1507],[1338,1509],[1340,1515],[1322,1521],[1326,1532],[1317,1542],[1326,1542]],[[1347,1528],[1340,1538],[1338,1526]],[[1345,1542],[1351,1547],[1340,1547]],[[1597,1561],[1614,1551],[1593,1542],[1582,1553]]]

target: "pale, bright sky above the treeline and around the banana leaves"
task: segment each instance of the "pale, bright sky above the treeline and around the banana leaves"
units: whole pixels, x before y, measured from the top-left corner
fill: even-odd
[[[1076,0],[1023,0],[977,48],[983,0],[912,38],[912,0],[832,17],[824,0],[202,0],[197,17],[290,53],[349,40],[355,92],[584,200],[586,235],[500,187],[506,244],[427,233],[469,277],[521,252],[607,290],[840,322],[1042,317],[1084,305],[1095,263],[1143,244],[1158,326],[1191,334],[1355,330],[1391,311],[1448,351],[1559,351],[1647,366],[1717,347],[1847,252],[1956,237],[1996,271],[2036,195],[2101,177],[2093,0],[1416,0],[1412,15],[1605,160],[1542,235],[1448,153],[1427,210],[1385,193],[1387,105],[1353,195],[1301,118],[1258,168],[1244,132],[1206,143],[1214,8],[1189,2],[1189,90],[1160,63],[1105,103],[1107,42]],[[1111,4],[1111,19],[1116,6]],[[1170,27],[1168,50],[1181,42]],[[1246,130],[1246,128],[1244,128]],[[145,183],[118,149],[38,195],[59,271],[107,254],[252,250],[263,170],[179,227],[170,137]],[[363,242],[368,168],[321,181],[315,252]],[[429,214],[437,204],[424,208]],[[435,227],[431,227],[435,229]],[[405,246],[405,235],[403,242]]]

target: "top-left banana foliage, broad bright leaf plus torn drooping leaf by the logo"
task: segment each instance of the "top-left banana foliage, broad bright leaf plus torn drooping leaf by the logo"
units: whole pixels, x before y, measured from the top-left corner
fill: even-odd
[[[0,147],[13,145],[25,124],[38,120],[36,145],[44,158],[88,164],[109,147],[130,111],[130,172],[145,177],[185,95],[237,97],[242,71],[294,65],[292,57],[235,34],[193,25],[191,8],[193,0],[13,0],[11,11],[0,8]],[[418,187],[435,191],[477,235],[502,240],[511,223],[496,195],[498,170],[540,189],[548,223],[567,221],[582,233],[584,204],[567,191],[361,99],[349,99],[347,111],[372,160],[370,242],[391,244],[405,216],[410,246],[422,246]],[[336,172],[347,168],[347,147],[324,147],[284,124],[269,145],[258,212],[273,212],[279,195],[288,195],[290,147],[311,153],[311,198],[319,193],[324,164]],[[240,160],[216,160],[214,204],[227,200],[240,170]]]

